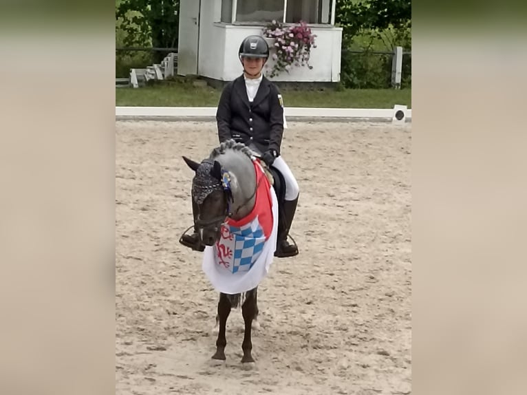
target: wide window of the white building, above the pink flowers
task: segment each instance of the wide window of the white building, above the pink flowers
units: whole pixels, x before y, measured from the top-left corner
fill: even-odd
[[[336,0],[222,0],[222,22],[334,23]],[[233,8],[235,8],[233,10]],[[285,11],[285,12],[284,12]],[[235,21],[233,21],[233,12]]]

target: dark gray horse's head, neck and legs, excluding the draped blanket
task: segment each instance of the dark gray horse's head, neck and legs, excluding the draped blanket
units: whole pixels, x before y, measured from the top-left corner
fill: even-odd
[[[227,217],[241,220],[255,206],[257,180],[252,151],[243,144],[229,140],[215,148],[211,155],[201,163],[183,157],[195,176],[192,182],[192,198],[199,206],[199,215],[195,219],[195,228],[202,244],[213,246],[221,237],[222,224]],[[228,169],[228,181],[225,173]],[[226,187],[228,182],[228,188]],[[241,304],[245,332],[241,349],[244,356],[241,362],[254,362],[252,358],[251,328],[258,314],[257,287],[237,295],[219,294],[217,321],[219,332],[216,341],[217,350],[213,359],[224,360],[225,330],[231,308]]]

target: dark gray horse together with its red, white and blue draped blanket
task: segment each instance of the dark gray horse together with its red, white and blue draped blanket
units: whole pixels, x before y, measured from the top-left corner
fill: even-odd
[[[275,173],[273,178],[259,161],[258,153],[235,140],[223,142],[200,163],[185,156],[183,160],[195,171],[191,196],[199,215],[194,226],[202,244],[209,247],[204,251],[203,267],[219,290],[216,317],[219,331],[212,358],[226,360],[226,322],[230,310],[241,306],[245,324],[241,362],[255,362],[251,329],[258,315],[258,284],[268,272],[276,249],[278,205],[283,198],[279,175]],[[248,225],[239,225],[255,212],[257,217]],[[214,258],[214,263],[208,264],[207,257],[209,261]],[[239,282],[244,284],[224,284],[230,278],[243,279]]]

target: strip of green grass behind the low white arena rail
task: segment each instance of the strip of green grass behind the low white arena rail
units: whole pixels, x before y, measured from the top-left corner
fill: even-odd
[[[117,106],[216,107],[219,89],[191,83],[163,83],[149,87],[116,88]],[[286,107],[411,108],[411,89],[282,90]]]

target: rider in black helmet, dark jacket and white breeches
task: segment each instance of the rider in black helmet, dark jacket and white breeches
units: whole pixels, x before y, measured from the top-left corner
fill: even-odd
[[[224,87],[219,99],[216,113],[219,142],[232,138],[245,145],[255,145],[268,167],[272,165],[283,175],[286,182],[284,221],[279,222],[275,256],[292,257],[299,253],[297,246],[288,242],[299,186],[281,156],[284,120],[281,94],[261,72],[269,57],[269,47],[263,37],[248,36],[241,42],[238,56],[244,73]],[[194,203],[193,213],[197,213]],[[197,233],[186,237],[185,245],[200,245]]]

